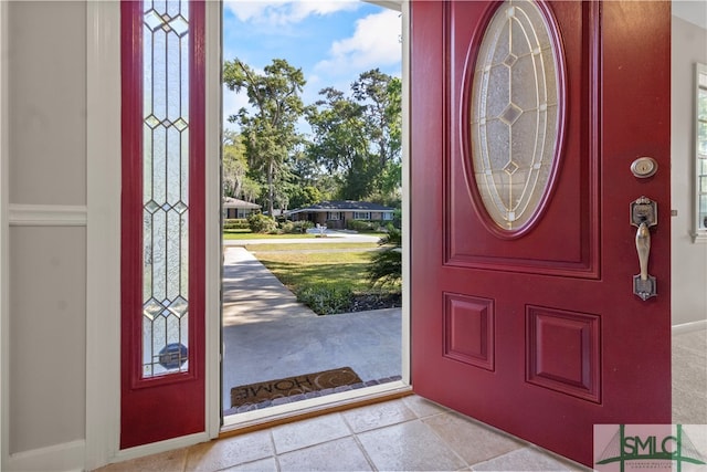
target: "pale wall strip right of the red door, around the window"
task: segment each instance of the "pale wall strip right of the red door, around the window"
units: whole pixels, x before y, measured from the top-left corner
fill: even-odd
[[[673,17],[673,325],[707,321],[707,243],[694,243],[695,62],[707,64],[707,30]]]

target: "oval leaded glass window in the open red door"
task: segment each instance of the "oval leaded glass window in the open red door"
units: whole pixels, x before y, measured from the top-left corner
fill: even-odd
[[[508,0],[482,39],[471,96],[473,171],[504,231],[529,224],[551,183],[563,96],[553,34],[532,1]]]

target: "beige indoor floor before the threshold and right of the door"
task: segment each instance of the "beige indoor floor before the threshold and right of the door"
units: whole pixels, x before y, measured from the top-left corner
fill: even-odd
[[[707,423],[707,331],[674,336],[674,422]],[[118,471],[588,471],[418,396],[110,464]]]

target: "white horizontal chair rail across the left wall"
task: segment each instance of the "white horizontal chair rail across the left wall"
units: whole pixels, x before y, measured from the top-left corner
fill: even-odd
[[[10,203],[11,227],[85,227],[87,208],[68,204]]]

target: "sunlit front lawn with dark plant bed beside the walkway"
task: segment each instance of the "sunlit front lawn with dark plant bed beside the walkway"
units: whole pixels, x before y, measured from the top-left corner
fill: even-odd
[[[372,287],[367,279],[376,243],[253,244],[249,250],[315,313],[330,315],[400,306],[399,284]],[[292,248],[296,245],[294,250]],[[347,249],[349,249],[347,251]]]

